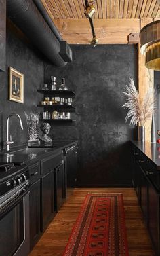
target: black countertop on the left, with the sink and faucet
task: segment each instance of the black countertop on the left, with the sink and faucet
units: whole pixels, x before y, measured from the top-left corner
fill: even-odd
[[[74,143],[77,141],[55,141],[52,144],[33,145],[14,149],[14,151],[1,152],[0,164],[32,162],[37,158],[43,158],[44,154],[56,153],[56,151],[70,147]]]

